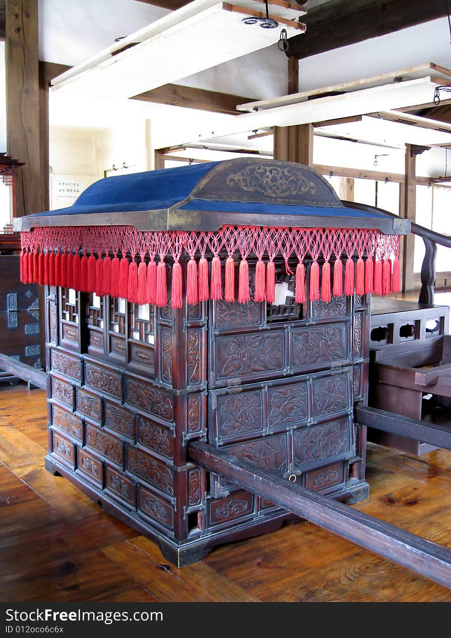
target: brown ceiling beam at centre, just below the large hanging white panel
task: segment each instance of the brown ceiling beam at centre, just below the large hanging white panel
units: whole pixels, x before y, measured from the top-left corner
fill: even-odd
[[[197,108],[198,110],[227,115],[238,114],[236,105],[242,104],[243,100],[248,100],[248,98],[241,98],[238,95],[195,89],[180,84],[165,84],[131,99],[167,104],[171,107]]]

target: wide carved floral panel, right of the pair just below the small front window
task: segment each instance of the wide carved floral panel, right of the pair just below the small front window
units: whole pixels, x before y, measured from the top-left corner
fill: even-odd
[[[345,323],[309,326],[291,332],[290,365],[293,367],[329,364],[347,360],[348,336]]]

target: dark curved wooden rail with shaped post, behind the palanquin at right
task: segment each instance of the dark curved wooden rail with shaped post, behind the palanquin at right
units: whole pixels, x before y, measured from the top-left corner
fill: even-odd
[[[375,206],[369,206],[368,204],[358,204],[357,202],[343,202],[343,204],[349,208],[358,208],[362,211],[368,212],[378,212],[387,217],[398,218],[398,216],[392,212],[383,211],[382,208],[376,208]],[[415,224],[415,222],[412,222],[411,230],[414,235],[418,235],[422,238],[426,249],[423,263],[421,265],[421,288],[418,302],[419,304],[433,304],[434,284],[436,279],[435,259],[437,255],[437,244],[439,246],[445,246],[445,248],[451,248],[451,237],[436,233],[434,230],[429,230],[429,228],[424,228],[424,226]]]

